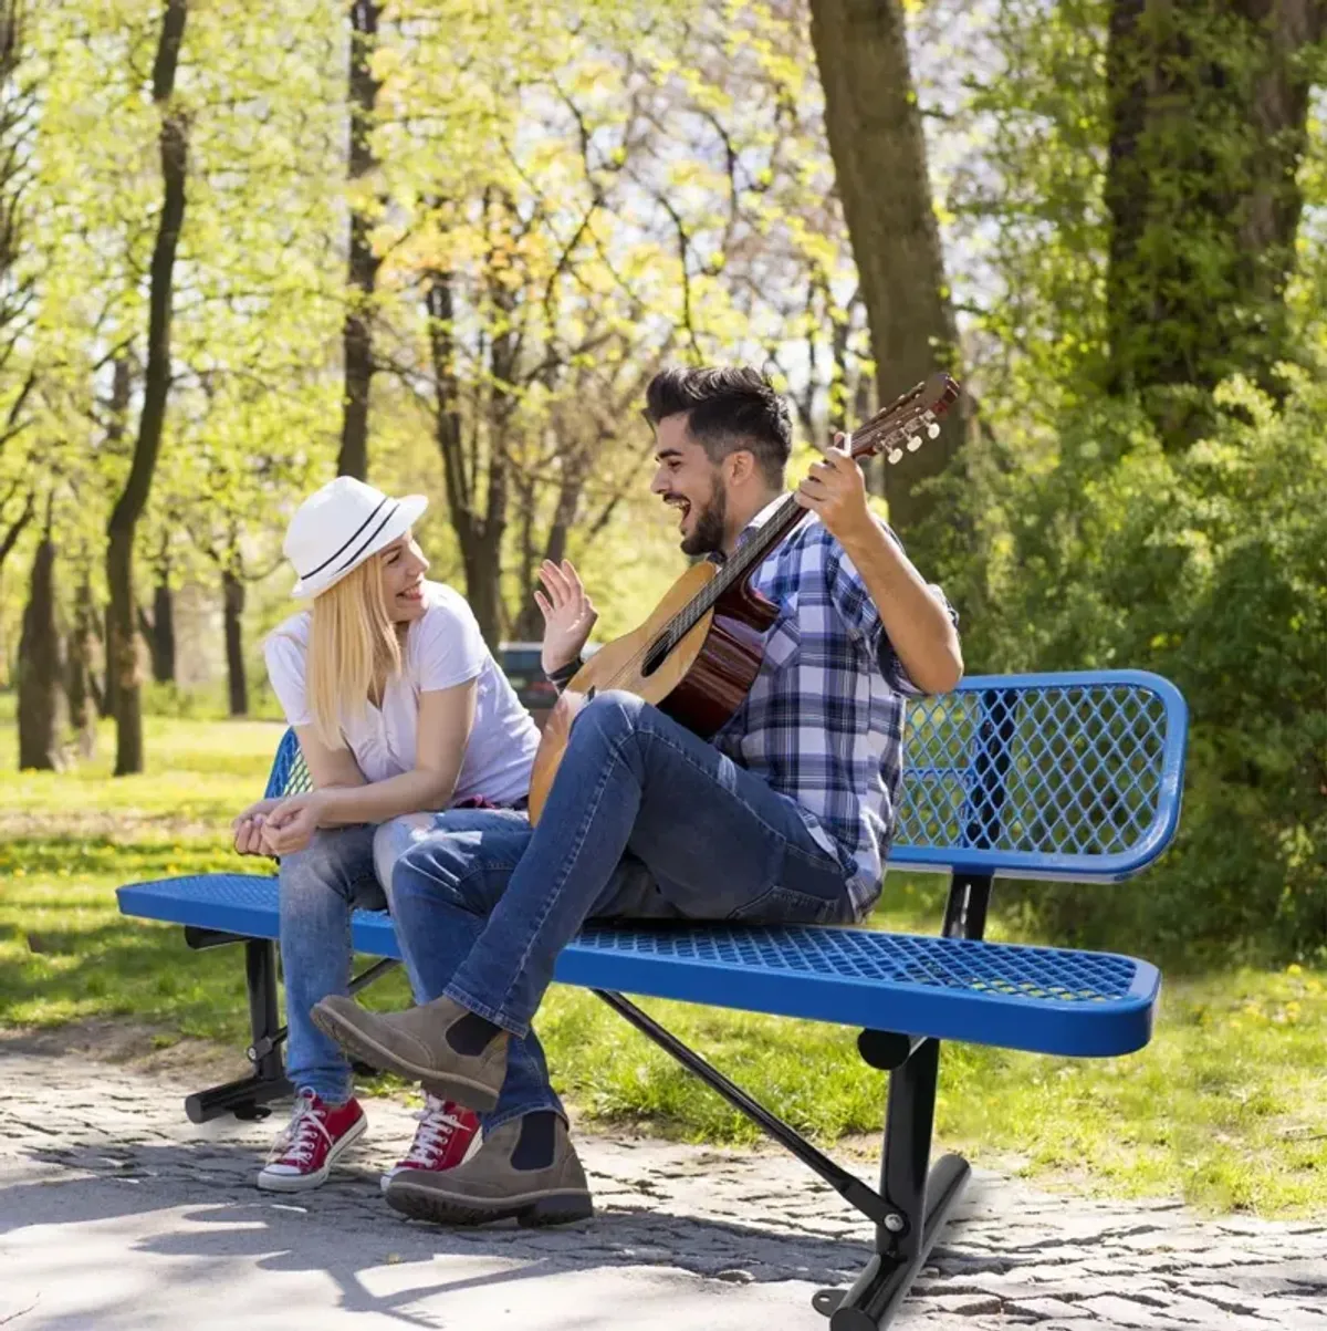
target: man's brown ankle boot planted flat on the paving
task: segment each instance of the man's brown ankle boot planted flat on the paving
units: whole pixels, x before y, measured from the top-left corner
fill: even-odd
[[[549,1110],[503,1123],[456,1169],[400,1170],[387,1185],[387,1205],[436,1225],[483,1225],[515,1217],[529,1227],[585,1221],[594,1214],[566,1123]]]

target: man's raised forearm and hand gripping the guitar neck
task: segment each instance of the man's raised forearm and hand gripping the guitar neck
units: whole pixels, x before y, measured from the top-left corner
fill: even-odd
[[[796,502],[819,515],[852,560],[912,683],[928,693],[953,688],[963,679],[963,651],[953,620],[912,560],[876,522],[866,502],[866,478],[843,447],[842,434],[826,449],[824,462],[811,467]]]

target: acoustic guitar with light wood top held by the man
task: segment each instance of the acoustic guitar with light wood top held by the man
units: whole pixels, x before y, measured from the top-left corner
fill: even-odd
[[[890,463],[940,433],[959,398],[948,374],[933,374],[878,411],[846,441],[854,458],[884,453]],[[640,628],[601,647],[573,676],[549,716],[531,772],[529,817],[537,823],[566,751],[576,712],[596,693],[626,689],[710,739],[741,707],[765,655],[779,607],[750,575],[791,535],[808,510],[792,495],[722,564],[693,564]]]

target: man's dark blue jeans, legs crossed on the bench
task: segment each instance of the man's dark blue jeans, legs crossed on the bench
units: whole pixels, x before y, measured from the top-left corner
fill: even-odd
[[[572,727],[537,828],[459,812],[392,872],[392,913],[418,996],[440,994],[512,1036],[492,1130],[557,1109],[529,1033],[558,953],[592,917],[839,924],[851,868],[796,804],[633,693]]]

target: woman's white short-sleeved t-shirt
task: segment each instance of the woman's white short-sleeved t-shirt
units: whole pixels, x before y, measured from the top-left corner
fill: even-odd
[[[483,796],[513,804],[529,792],[539,731],[484,643],[465,598],[443,583],[424,583],[424,615],[406,632],[402,673],[388,680],[380,707],[364,703],[342,717],[342,733],[368,781],[415,767],[419,695],[477,679],[475,725],[456,777],[453,803]],[[263,644],[267,675],[291,725],[308,725],[304,693],[311,612],[287,619]]]

